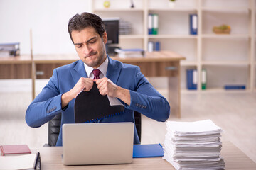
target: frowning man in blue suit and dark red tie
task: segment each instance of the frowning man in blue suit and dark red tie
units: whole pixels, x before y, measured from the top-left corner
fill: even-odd
[[[75,97],[82,90],[90,91],[94,81],[100,94],[118,98],[124,104],[124,114],[104,118],[100,123],[134,122],[134,111],[157,121],[169,118],[168,101],[149,84],[139,67],[112,60],[107,55],[107,33],[99,16],[76,14],[70,18],[68,33],[80,60],[53,70],[48,84],[28,106],[29,126],[40,127],[59,113],[62,113],[61,125],[75,123]],[[134,144],[139,144],[136,129]],[[61,145],[60,128],[56,146]]]

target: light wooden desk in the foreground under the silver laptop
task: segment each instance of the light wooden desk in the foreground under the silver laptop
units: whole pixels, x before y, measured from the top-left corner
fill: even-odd
[[[40,147],[31,149],[32,152],[40,152],[42,169],[172,169],[169,162],[162,158],[136,158],[132,164],[112,165],[87,165],[87,166],[65,166],[61,162],[62,147]],[[247,157],[238,147],[231,142],[223,142],[221,155],[224,157],[225,169],[256,169],[255,162]]]

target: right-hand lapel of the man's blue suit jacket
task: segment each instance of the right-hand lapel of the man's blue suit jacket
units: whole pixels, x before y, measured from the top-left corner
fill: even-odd
[[[110,79],[114,84],[117,84],[117,80],[121,72],[121,68],[118,67],[115,60],[112,60],[110,57],[108,57],[108,59],[109,59],[109,63],[107,66],[106,77]]]

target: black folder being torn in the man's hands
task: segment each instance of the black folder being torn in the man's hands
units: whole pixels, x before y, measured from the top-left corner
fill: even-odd
[[[95,82],[90,91],[82,91],[75,98],[75,123],[94,123],[122,113],[124,105],[117,98],[102,96]]]

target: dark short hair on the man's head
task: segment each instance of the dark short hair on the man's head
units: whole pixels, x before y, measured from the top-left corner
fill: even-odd
[[[70,18],[68,22],[68,33],[70,34],[72,42],[74,43],[71,36],[73,30],[80,31],[88,27],[95,28],[100,37],[102,37],[105,32],[105,25],[102,19],[93,13],[84,12],[81,13],[81,15],[75,14],[75,16]]]

